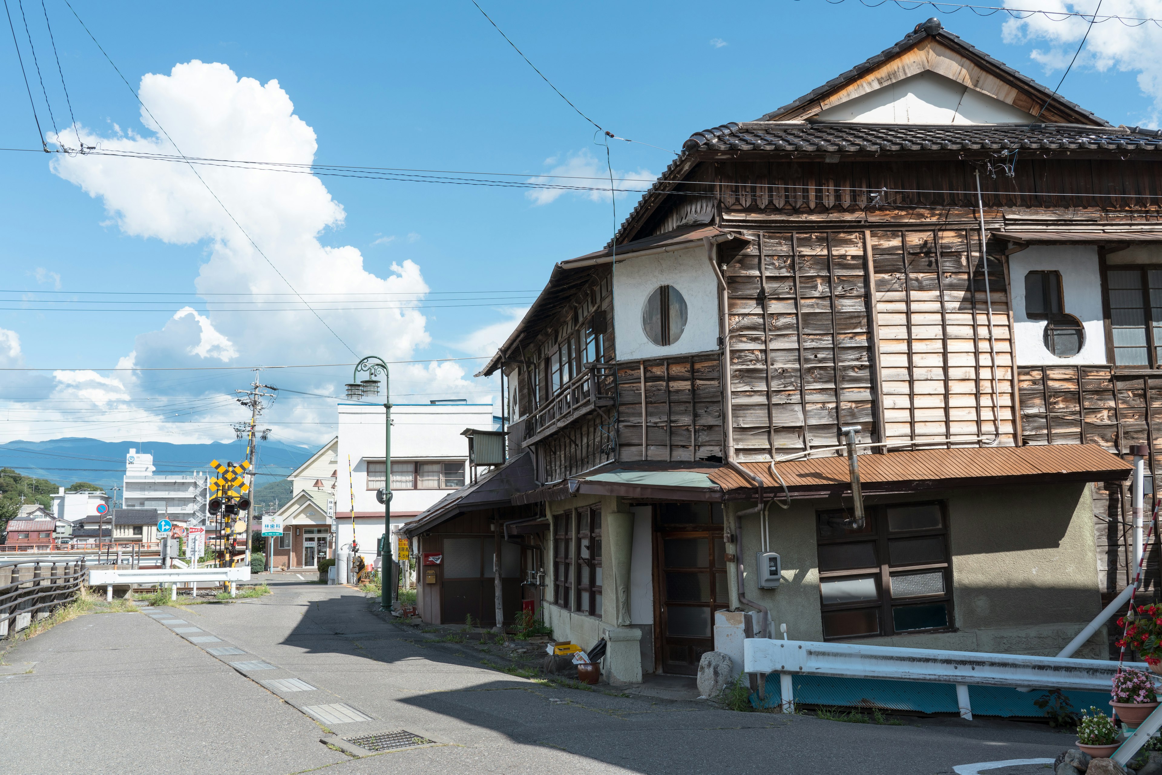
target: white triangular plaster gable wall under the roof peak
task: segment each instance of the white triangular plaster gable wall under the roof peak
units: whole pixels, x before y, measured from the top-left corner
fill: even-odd
[[[823,110],[824,121],[877,124],[1005,124],[1035,119],[1013,106],[957,84],[939,73],[923,72],[861,94]]]

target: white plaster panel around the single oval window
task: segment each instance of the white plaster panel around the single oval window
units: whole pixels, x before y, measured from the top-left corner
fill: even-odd
[[[686,299],[686,330],[674,344],[659,347],[641,328],[641,310],[654,288],[669,285]],[[718,349],[718,280],[706,250],[687,250],[617,261],[614,268],[614,324],[618,360],[657,358]]]

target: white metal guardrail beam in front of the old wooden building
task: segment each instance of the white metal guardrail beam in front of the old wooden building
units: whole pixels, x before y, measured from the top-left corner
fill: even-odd
[[[766,638],[744,640],[743,655],[747,673],[932,681],[985,687],[1045,687],[1081,691],[1109,691],[1118,669],[1117,662],[1100,659]],[[1149,669],[1145,663],[1127,667]]]

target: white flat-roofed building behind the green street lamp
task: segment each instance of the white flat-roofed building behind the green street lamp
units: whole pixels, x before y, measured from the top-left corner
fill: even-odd
[[[464,430],[494,430],[498,422],[492,403],[467,403],[462,399],[392,406],[393,533],[467,481],[468,443],[461,436]],[[339,404],[335,546],[351,544],[353,525],[359,554],[368,565],[383,534],[383,507],[375,500],[375,491],[383,486],[383,430],[382,406]],[[399,557],[394,534],[392,557]]]

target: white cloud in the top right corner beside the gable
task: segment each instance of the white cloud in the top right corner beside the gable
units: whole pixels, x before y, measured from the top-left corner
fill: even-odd
[[[1027,8],[1020,0],[1005,0],[1012,8]],[[1042,0],[1038,8],[1053,12],[1074,12],[1092,14],[1092,2],[1068,2],[1066,0]],[[1103,0],[1100,15],[1116,15],[1136,19],[1162,19],[1162,0]],[[1011,19],[1005,22],[1004,36],[1006,43],[1025,41],[1043,41],[1045,49],[1034,49],[1032,57],[1045,66],[1050,76],[1049,88],[1056,86],[1060,73],[1069,65],[1078,44],[1085,37],[1085,48],[1077,57],[1074,67],[1092,67],[1099,72],[1117,69],[1121,72],[1136,73],[1138,86],[1148,95],[1153,106],[1141,112],[1134,121],[1142,125],[1157,125],[1162,116],[1162,28],[1154,22],[1136,27],[1122,24],[1117,19],[1099,21],[1090,29],[1086,20],[1078,16],[1059,21],[1043,14],[1033,14],[1027,19]],[[1068,92],[1069,81],[1063,88]]]

